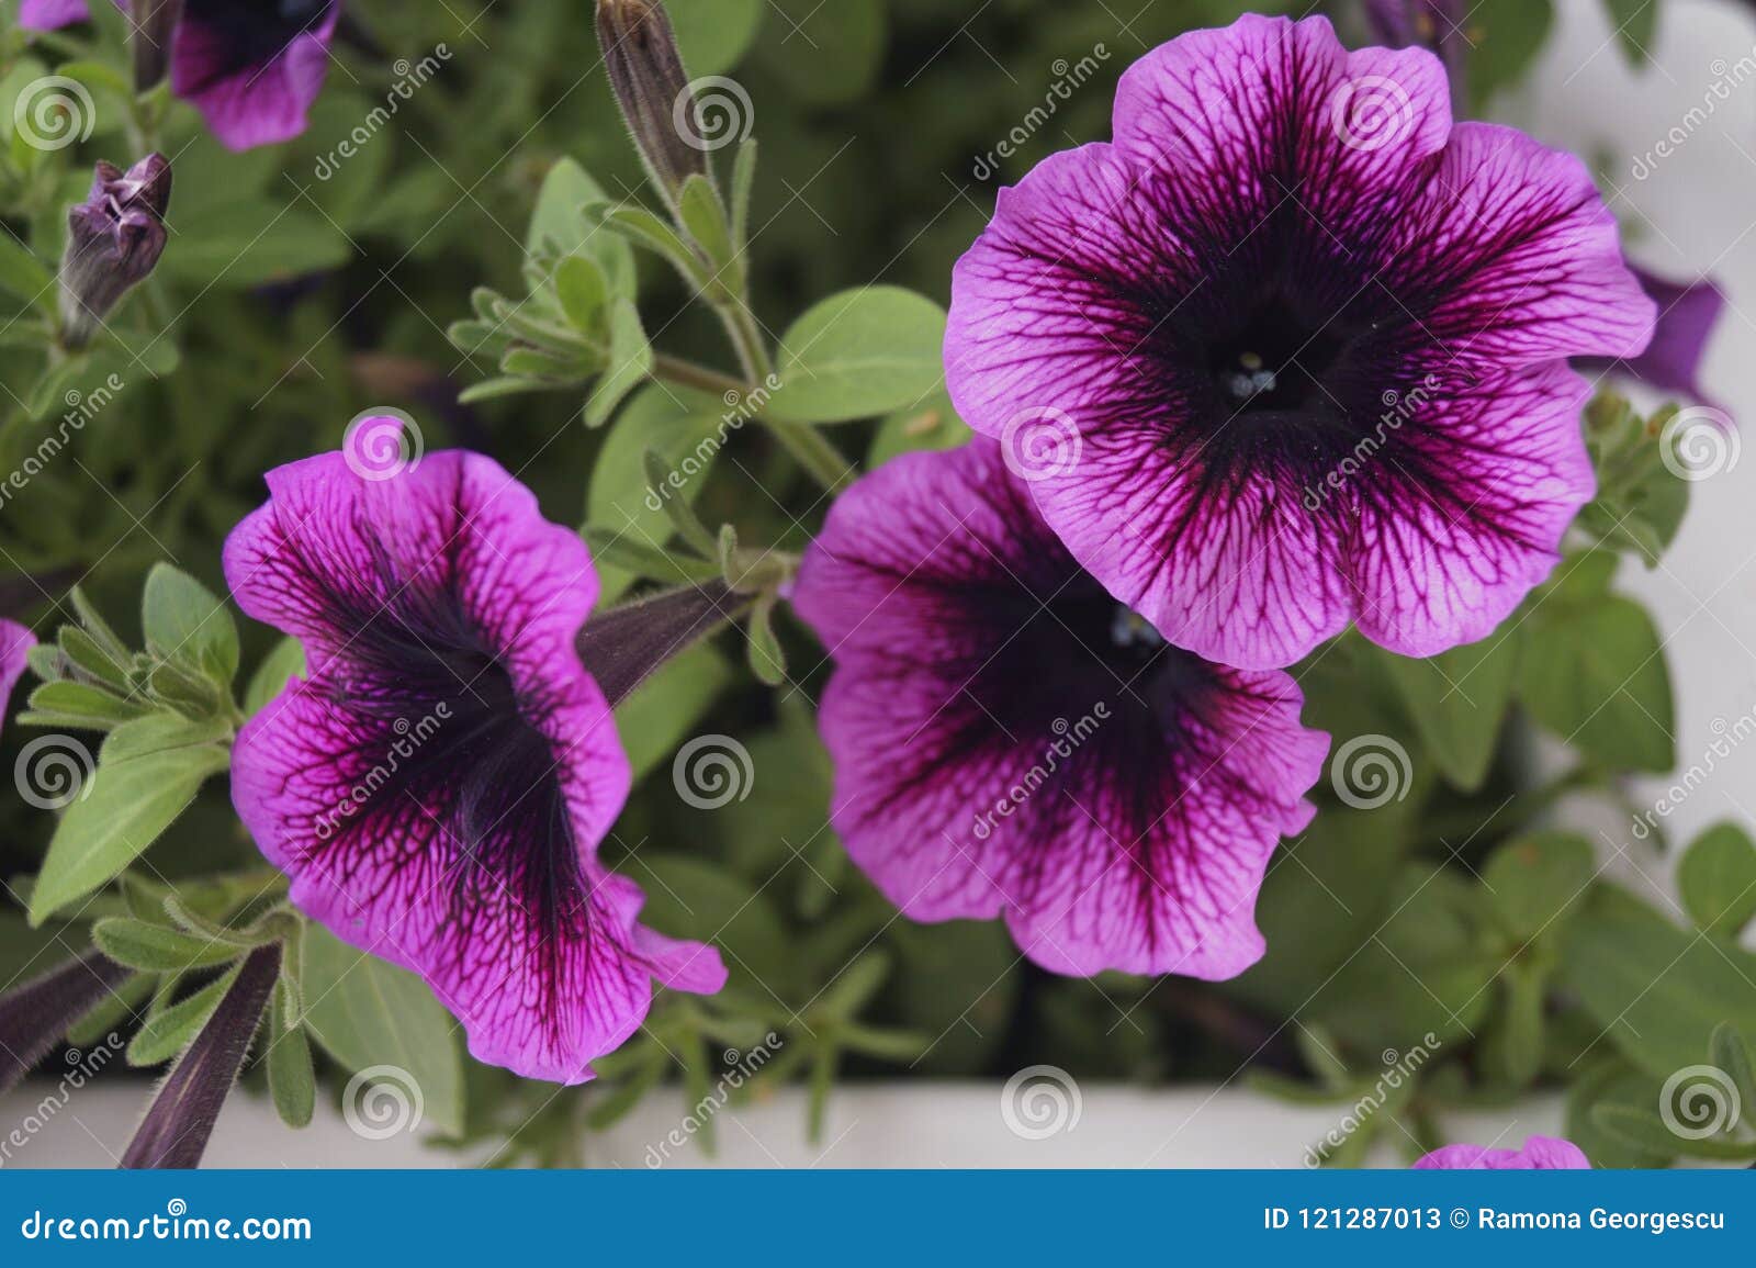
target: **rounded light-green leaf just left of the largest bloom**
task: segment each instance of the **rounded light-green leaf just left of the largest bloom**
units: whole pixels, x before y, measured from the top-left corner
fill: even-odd
[[[915,406],[939,386],[945,311],[899,286],[866,286],[813,306],[780,342],[771,418],[874,418]]]

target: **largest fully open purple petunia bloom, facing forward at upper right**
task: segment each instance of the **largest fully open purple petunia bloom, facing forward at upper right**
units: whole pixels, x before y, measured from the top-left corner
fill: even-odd
[[[1593,495],[1566,358],[1651,330],[1579,160],[1452,126],[1426,51],[1245,16],[1001,191],[945,351],[1112,594],[1273,667],[1350,620],[1407,655],[1489,634]]]

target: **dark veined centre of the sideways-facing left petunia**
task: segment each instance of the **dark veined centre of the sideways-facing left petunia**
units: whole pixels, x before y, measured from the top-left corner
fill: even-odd
[[[363,525],[362,536],[371,539]],[[335,613],[341,629],[360,632],[323,674],[321,688],[367,724],[355,753],[363,767],[381,766],[388,774],[363,824],[351,820],[321,847],[327,862],[348,875],[355,825],[374,841],[439,850],[458,934],[500,927],[513,938],[529,920],[546,947],[583,948],[590,885],[560,753],[537,725],[550,704],[518,688],[493,639],[469,620],[450,560],[411,581],[379,555],[378,573],[378,592],[395,599],[383,609]],[[413,752],[390,762],[386,750],[399,739]],[[523,913],[513,927],[504,919],[476,922],[507,904]],[[469,938],[453,940],[460,959],[467,947]]]

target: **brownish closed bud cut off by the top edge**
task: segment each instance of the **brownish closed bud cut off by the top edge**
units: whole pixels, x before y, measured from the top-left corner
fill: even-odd
[[[658,193],[674,204],[683,181],[708,176],[708,156],[676,125],[678,114],[690,111],[694,90],[671,19],[658,0],[597,0],[597,42],[634,146]]]

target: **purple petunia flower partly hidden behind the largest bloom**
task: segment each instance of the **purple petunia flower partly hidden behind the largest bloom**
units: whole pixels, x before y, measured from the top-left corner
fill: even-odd
[[[1059,973],[1227,978],[1328,736],[1278,671],[1166,645],[1092,580],[1001,448],[843,494],[794,604],[836,659],[822,732],[848,854],[917,920],[1003,915]]]

